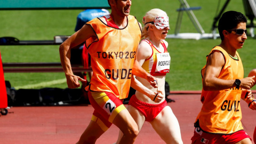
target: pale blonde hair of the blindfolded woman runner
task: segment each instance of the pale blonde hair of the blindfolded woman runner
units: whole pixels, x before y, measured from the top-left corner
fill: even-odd
[[[144,24],[143,28],[142,28],[142,35],[141,35],[141,38],[146,38],[148,37],[148,26],[150,23],[147,23],[147,22],[151,22],[151,21],[154,21],[154,19],[158,16],[163,16],[163,17],[167,17],[167,14],[165,11],[163,10],[160,10],[160,9],[152,9],[150,11],[148,11],[145,16],[143,17],[142,19],[142,22]],[[145,23],[146,23],[146,26],[145,26]]]

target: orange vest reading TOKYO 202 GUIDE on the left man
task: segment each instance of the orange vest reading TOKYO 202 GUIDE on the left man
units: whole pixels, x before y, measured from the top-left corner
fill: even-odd
[[[127,16],[127,21],[128,25],[121,29],[108,26],[101,19],[85,24],[91,26],[96,35],[86,40],[94,75],[91,91],[111,92],[119,99],[128,97],[130,86],[127,85],[131,84],[141,29],[134,16]]]

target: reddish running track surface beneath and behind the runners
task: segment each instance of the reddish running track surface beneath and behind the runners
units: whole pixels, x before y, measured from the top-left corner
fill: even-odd
[[[194,121],[202,107],[200,92],[175,92],[168,98],[175,100],[168,105],[178,118],[183,143],[191,143]],[[125,105],[127,106],[127,105]],[[253,137],[256,111],[241,101],[244,130]],[[0,117],[0,143],[76,143],[89,124],[93,108],[87,106],[12,107],[9,114]],[[112,125],[96,143],[114,143],[118,128]],[[151,125],[146,122],[135,143],[164,143]]]

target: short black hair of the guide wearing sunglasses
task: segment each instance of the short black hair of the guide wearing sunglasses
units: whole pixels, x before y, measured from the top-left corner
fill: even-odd
[[[223,30],[233,29],[241,22],[247,22],[247,18],[241,12],[227,11],[223,13],[218,24],[221,41],[224,39]]]

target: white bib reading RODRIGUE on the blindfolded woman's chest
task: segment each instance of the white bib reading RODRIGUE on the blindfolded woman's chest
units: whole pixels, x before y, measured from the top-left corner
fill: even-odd
[[[156,53],[156,71],[158,73],[169,73],[171,57],[169,53]]]

